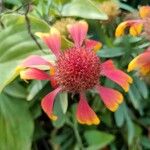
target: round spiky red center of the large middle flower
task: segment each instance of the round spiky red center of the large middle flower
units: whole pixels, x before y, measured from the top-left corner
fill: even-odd
[[[56,80],[64,91],[82,92],[99,81],[100,60],[92,50],[72,48],[56,62]]]

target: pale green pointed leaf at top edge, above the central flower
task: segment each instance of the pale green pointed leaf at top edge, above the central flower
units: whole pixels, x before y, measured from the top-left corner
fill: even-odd
[[[107,15],[104,14],[92,0],[73,0],[63,6],[61,15],[86,19],[108,19]]]

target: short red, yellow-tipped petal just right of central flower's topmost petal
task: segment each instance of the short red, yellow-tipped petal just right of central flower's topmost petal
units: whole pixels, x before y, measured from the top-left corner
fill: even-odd
[[[94,52],[97,52],[101,49],[102,43],[98,42],[98,41],[95,41],[95,40],[86,39],[85,40],[85,47],[87,49],[94,50]]]

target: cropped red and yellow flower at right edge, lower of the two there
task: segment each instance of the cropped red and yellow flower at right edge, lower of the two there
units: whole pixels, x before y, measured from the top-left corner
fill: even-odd
[[[128,72],[138,70],[140,75],[150,75],[150,48],[135,57],[128,66]]]

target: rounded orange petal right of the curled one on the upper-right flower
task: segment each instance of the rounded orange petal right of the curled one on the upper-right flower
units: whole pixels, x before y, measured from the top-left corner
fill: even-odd
[[[135,23],[130,27],[129,33],[132,36],[137,36],[142,32],[143,24],[142,23]]]

